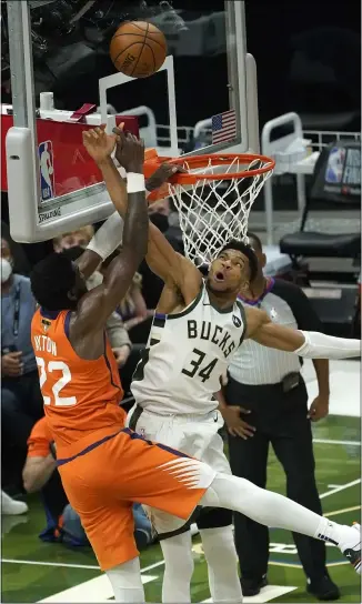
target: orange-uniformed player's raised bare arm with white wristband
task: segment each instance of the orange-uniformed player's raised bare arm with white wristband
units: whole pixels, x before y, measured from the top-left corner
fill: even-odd
[[[95,131],[88,132],[86,139],[89,151],[92,144],[97,148]],[[103,283],[82,298],[77,312],[79,330],[94,332],[103,326],[128,292],[147,252],[149,219],[143,177],[144,144],[132,134],[124,137],[122,144],[123,164],[128,170],[127,192],[130,200],[124,217],[122,251],[109,265]],[[108,155],[104,152],[105,157]]]

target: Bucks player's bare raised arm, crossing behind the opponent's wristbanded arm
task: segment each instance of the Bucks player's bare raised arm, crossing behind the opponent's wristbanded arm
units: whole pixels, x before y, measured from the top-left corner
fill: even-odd
[[[114,132],[118,135],[115,158],[120,164],[123,165],[122,139],[124,138],[124,134],[119,129],[114,129]],[[111,158],[107,158],[105,161],[98,162],[98,165],[102,172],[113,204],[115,205],[118,212],[121,215],[124,215],[127,202],[121,194],[122,187],[124,187],[121,175],[119,174]],[[152,180],[154,182],[154,175],[152,177]],[[160,184],[162,184],[161,181]],[[148,182],[145,185],[148,188]],[[131,202],[131,200],[129,201]],[[149,228],[149,245],[145,260],[150,269],[158,274],[164,281],[164,283],[170,286],[174,285],[181,291],[187,303],[197,296],[201,284],[200,272],[192,262],[173,250],[165,236],[152,223],[150,223]]]

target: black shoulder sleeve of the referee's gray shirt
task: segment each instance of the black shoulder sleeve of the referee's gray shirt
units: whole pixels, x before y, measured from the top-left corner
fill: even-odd
[[[301,331],[323,331],[322,322],[310,300],[299,285],[278,279],[272,290],[291,308],[298,329]]]

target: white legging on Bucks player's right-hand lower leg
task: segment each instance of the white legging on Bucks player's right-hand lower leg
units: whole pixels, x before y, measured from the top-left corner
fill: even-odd
[[[242,602],[232,526],[200,530],[213,602]]]

